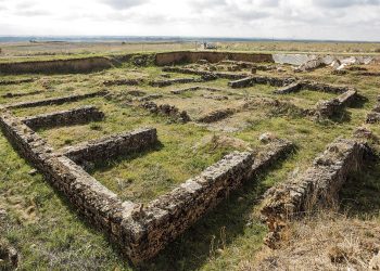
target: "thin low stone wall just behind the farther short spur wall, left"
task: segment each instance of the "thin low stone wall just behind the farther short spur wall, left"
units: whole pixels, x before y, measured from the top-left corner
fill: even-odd
[[[26,107],[52,105],[52,104],[64,104],[64,103],[68,103],[68,102],[76,102],[76,101],[85,100],[88,98],[103,96],[106,93],[107,93],[106,91],[102,90],[102,91],[97,91],[97,92],[91,92],[91,93],[86,93],[86,94],[74,94],[74,95],[68,95],[68,96],[50,98],[50,99],[38,100],[38,101],[20,102],[20,103],[13,103],[13,104],[5,104],[4,108],[15,109],[15,108],[26,108]]]

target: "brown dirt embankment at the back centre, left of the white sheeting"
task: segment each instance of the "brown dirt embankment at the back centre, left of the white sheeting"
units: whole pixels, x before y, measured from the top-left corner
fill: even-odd
[[[229,53],[229,52],[167,52],[155,55],[155,64],[159,66],[194,63],[199,60],[207,60],[211,63],[217,63],[224,60],[245,61],[245,62],[274,62],[271,54],[257,53]]]

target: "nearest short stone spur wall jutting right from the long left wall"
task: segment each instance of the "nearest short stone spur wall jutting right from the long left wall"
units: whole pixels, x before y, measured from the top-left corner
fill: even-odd
[[[99,162],[141,152],[159,142],[155,128],[143,128],[67,146],[60,151],[77,164]]]

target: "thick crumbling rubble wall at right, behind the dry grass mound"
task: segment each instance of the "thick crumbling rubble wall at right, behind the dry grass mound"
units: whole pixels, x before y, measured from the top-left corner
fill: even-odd
[[[339,138],[305,172],[269,189],[261,210],[270,231],[267,244],[276,246],[289,219],[302,216],[317,205],[332,204],[347,176],[360,170],[368,153],[369,147],[362,141]]]

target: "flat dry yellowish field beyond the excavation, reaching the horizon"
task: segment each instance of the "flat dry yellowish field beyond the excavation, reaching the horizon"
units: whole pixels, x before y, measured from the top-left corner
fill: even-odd
[[[216,42],[217,50],[262,53],[380,54],[378,42],[250,41]],[[200,42],[0,42],[0,63],[123,55],[136,52],[203,50]]]

